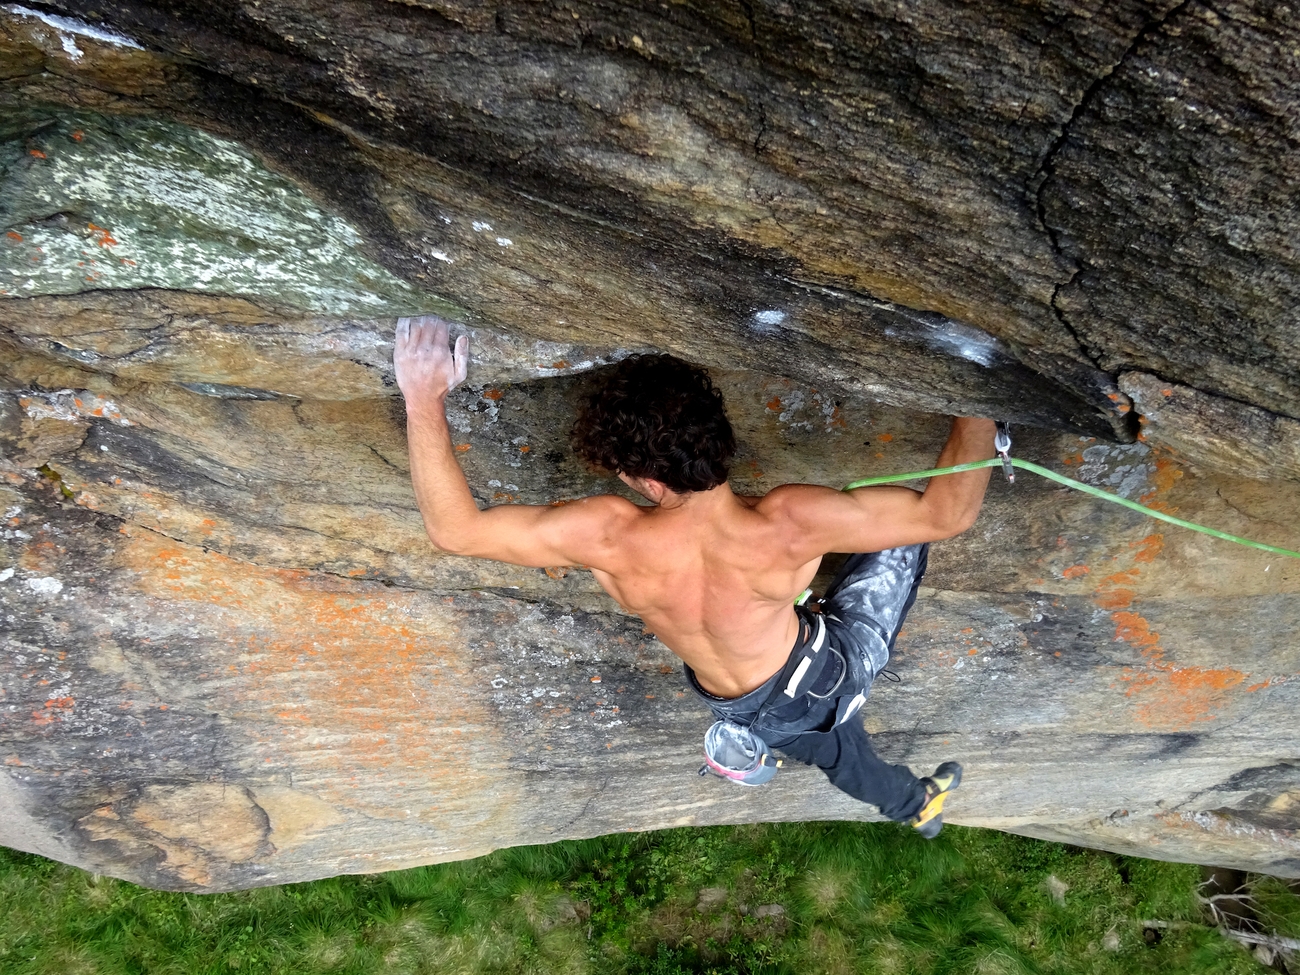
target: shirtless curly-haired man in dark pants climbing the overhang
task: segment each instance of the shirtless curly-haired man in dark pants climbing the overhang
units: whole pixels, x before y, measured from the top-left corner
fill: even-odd
[[[411,480],[436,546],[590,568],[682,659],[688,682],[720,719],[715,728],[748,728],[888,819],[939,833],[961,766],[945,762],[918,779],[883,762],[858,708],[916,598],[928,543],[975,523],[988,469],[932,478],[923,494],[788,484],[741,497],[727,482],[736,442],[707,373],[671,356],[633,356],[590,398],[573,441],[651,503],[602,494],[480,511],[445,413],[468,365],[469,339],[451,350],[446,322],[398,322]],[[954,419],[937,465],[993,456],[993,436],[992,420]],[[845,563],[820,612],[797,607],[828,551],[862,554]]]

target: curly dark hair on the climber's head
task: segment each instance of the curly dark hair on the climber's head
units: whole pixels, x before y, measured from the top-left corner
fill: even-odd
[[[615,365],[573,425],[573,448],[597,467],[684,491],[727,480],[736,436],[708,373],[671,355]]]

